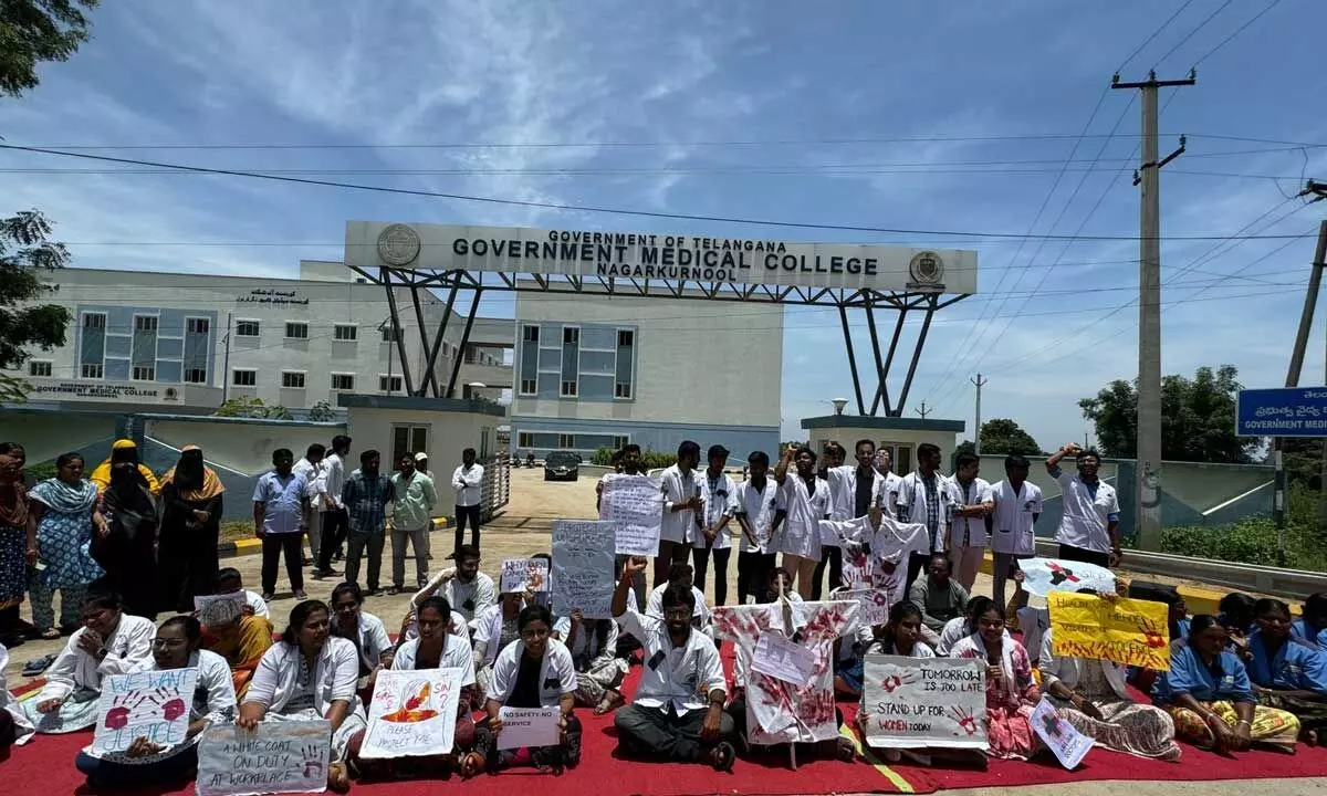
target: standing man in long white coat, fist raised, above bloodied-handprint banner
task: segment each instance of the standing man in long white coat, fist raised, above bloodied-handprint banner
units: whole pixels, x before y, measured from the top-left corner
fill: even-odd
[[[796,472],[788,468],[796,462]],[[783,566],[796,580],[798,593],[811,600],[816,564],[820,563],[820,520],[829,519],[829,483],[816,476],[816,455],[808,447],[790,447],[774,468],[788,515],[775,549]]]

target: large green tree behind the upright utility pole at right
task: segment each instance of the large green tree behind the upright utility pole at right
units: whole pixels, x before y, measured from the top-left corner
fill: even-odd
[[[1161,458],[1172,462],[1247,463],[1259,439],[1235,436],[1235,395],[1241,389],[1234,365],[1198,367],[1193,378],[1172,374],[1161,379]],[[1101,455],[1137,455],[1137,385],[1116,379],[1095,398],[1079,401],[1083,417],[1096,426]]]

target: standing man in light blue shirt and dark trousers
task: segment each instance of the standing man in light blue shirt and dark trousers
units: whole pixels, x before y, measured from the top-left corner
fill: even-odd
[[[272,451],[272,470],[253,486],[253,529],[263,540],[263,600],[267,602],[276,598],[276,565],[283,555],[295,598],[308,597],[304,593],[304,548],[300,544],[300,528],[309,511],[308,486],[293,468],[295,454],[277,448]],[[322,549],[328,551],[326,547]]]

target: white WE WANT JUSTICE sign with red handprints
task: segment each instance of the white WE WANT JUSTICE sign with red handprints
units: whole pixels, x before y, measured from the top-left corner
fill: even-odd
[[[196,669],[135,671],[102,679],[93,750],[122,752],[137,738],[163,747],[184,743],[196,683]]]

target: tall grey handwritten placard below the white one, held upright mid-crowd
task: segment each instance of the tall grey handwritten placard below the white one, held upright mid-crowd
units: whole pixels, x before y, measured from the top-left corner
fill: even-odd
[[[553,520],[553,614],[613,616],[613,523]]]

